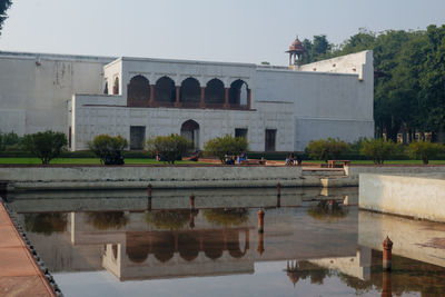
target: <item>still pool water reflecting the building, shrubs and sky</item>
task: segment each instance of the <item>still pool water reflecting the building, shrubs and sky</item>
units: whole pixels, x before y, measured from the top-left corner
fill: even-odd
[[[444,296],[445,225],[359,211],[357,195],[73,191],[8,200],[65,296]],[[382,271],[387,235],[390,274]]]

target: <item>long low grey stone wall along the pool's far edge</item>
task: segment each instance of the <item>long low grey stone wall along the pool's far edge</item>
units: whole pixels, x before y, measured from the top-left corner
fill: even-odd
[[[0,167],[8,190],[301,186],[300,167]],[[319,179],[307,179],[319,186]]]

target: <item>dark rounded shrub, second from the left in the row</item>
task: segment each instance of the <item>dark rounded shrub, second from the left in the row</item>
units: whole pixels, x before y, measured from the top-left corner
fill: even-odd
[[[127,139],[123,137],[99,135],[88,143],[90,150],[100,159],[100,164],[105,165],[122,165],[123,149],[128,146]]]

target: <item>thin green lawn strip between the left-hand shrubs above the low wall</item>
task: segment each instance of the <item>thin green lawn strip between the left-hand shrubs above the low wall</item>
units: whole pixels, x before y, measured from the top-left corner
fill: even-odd
[[[19,164],[19,165],[33,165],[41,164],[38,158],[0,158],[0,164]],[[57,158],[51,160],[50,164],[66,164],[66,165],[100,165],[98,158]],[[145,165],[145,164],[156,164],[164,165],[166,162],[157,161],[156,159],[125,159],[125,164],[129,165]],[[175,164],[196,164],[194,161],[176,161]],[[200,162],[202,164],[202,162]]]

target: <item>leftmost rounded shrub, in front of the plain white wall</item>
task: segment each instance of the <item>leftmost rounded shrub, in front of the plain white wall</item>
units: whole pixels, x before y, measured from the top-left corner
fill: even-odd
[[[59,157],[66,146],[67,137],[62,132],[48,130],[23,137],[23,150],[39,158],[42,165],[48,165],[50,160]]]

